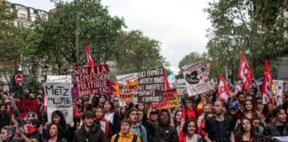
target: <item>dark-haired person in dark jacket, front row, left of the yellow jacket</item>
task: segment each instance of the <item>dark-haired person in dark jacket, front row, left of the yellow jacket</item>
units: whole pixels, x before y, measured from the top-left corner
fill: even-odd
[[[106,142],[103,130],[100,125],[94,123],[95,114],[92,111],[84,112],[82,120],[84,125],[75,132],[74,142]]]

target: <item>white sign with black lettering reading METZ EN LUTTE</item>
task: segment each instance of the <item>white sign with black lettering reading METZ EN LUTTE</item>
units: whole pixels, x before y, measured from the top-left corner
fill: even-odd
[[[70,83],[44,83],[47,107],[73,106]]]

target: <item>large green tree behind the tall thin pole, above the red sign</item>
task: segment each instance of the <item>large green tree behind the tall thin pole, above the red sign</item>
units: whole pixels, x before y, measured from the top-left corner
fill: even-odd
[[[79,14],[79,47],[76,47],[75,39],[76,10]],[[116,39],[123,27],[124,20],[110,16],[107,7],[98,0],[79,1],[77,7],[72,2],[57,2],[56,12],[51,12],[48,20],[36,22],[36,31],[42,36],[38,51],[48,55],[44,60],[52,67],[53,74],[68,74],[72,65],[86,64],[84,43],[91,47],[96,64],[114,59],[118,51]]]

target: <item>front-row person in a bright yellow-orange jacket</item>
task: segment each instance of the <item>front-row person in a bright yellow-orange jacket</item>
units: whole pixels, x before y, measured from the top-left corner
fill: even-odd
[[[121,122],[121,131],[114,135],[110,142],[141,142],[140,138],[131,131],[132,123],[128,120]]]

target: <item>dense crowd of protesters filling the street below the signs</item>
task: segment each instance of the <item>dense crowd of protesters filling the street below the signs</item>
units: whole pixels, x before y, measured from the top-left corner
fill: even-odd
[[[283,105],[262,104],[257,90],[234,88],[228,102],[218,99],[215,87],[193,97],[184,93],[179,107],[162,110],[156,103],[120,105],[106,94],[80,98],[74,102],[74,122],[66,122],[58,110],[47,118],[41,93],[19,98],[39,101],[39,113],[28,112],[20,120],[12,108],[15,95],[2,92],[0,138],[2,142],[265,142],[288,136],[287,93]]]

